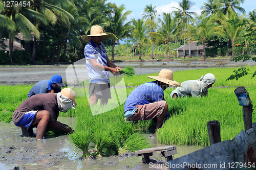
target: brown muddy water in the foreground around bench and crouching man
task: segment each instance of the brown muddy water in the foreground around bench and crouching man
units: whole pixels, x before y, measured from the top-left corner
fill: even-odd
[[[75,118],[59,117],[61,123],[74,126]],[[20,169],[154,169],[149,164],[143,164],[141,157],[135,154],[123,157],[103,157],[94,160],[81,161],[78,155],[72,150],[74,147],[68,141],[67,135],[54,138],[45,138],[36,141],[35,138],[21,137],[22,131],[12,123],[0,123],[0,169],[9,170],[15,166]],[[35,129],[34,129],[35,130]],[[162,147],[157,144],[155,134],[146,134],[153,147]],[[197,151],[198,147],[177,147],[178,154],[175,158]],[[160,158],[157,153],[151,156],[155,163],[164,163],[164,158]],[[151,167],[153,167],[151,165]],[[155,168],[157,169],[157,168]],[[160,168],[166,169],[166,168]]]

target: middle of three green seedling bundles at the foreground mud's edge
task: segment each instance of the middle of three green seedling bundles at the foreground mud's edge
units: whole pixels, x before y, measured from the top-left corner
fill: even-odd
[[[94,156],[103,156],[103,151],[113,144],[113,138],[109,131],[97,130],[93,134],[93,143],[95,144]]]

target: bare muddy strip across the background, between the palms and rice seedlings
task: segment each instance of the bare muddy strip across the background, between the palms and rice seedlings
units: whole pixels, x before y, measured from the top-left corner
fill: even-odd
[[[134,67],[136,74],[152,74],[159,72],[162,68],[176,70],[211,68],[211,67],[234,67],[234,66],[254,66],[253,60],[246,62],[229,62],[227,59],[196,61],[189,62],[179,61],[142,61],[142,62],[121,62],[115,63],[121,68],[127,65]],[[67,80],[66,76],[72,75],[67,69],[70,65],[34,65],[34,66],[1,66],[0,67],[0,85],[17,85],[17,84],[35,84],[40,80],[51,79],[53,75],[60,75],[63,80]],[[79,69],[77,74],[82,77],[86,75],[86,67]],[[150,69],[149,69],[150,68]],[[74,78],[75,80],[75,78]]]

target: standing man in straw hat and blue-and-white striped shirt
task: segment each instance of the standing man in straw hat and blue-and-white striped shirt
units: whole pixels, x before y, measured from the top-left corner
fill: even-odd
[[[90,77],[89,106],[94,105],[100,99],[100,104],[107,104],[111,99],[109,72],[118,72],[121,68],[112,63],[106,55],[105,47],[101,44],[113,34],[106,34],[100,26],[93,26],[91,34],[82,36],[82,40],[89,42],[84,47],[84,57],[88,75]]]

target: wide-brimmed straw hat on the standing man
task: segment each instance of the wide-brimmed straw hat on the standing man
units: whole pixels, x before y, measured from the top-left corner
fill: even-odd
[[[81,36],[81,38],[84,41],[90,42],[92,37],[102,36],[102,41],[105,41],[106,39],[109,39],[112,35],[112,33],[104,33],[103,29],[100,26],[93,26],[91,28],[91,35],[83,35]]]

